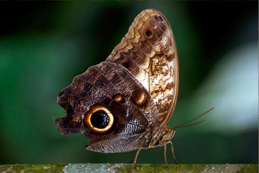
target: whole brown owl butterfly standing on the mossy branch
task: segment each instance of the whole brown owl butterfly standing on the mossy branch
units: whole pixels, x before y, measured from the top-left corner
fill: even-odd
[[[62,135],[83,131],[90,140],[86,150],[137,150],[130,172],[141,149],[164,146],[167,165],[168,143],[177,163],[167,140],[175,128],[186,126],[171,129],[167,124],[175,110],[178,84],[171,26],[158,10],[143,10],[105,62],[89,67],[59,92],[57,103],[67,116],[55,118],[55,124]]]

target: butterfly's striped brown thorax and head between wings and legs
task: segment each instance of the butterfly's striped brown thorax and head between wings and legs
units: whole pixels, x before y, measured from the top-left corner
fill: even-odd
[[[143,147],[153,148],[158,147],[166,140],[171,139],[175,134],[170,127],[163,129],[147,130],[144,134]]]

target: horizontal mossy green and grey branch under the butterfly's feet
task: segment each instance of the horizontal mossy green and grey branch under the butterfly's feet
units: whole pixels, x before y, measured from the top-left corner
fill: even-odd
[[[123,163],[77,163],[77,164],[15,164],[0,165],[0,173],[102,173],[128,172],[131,164]],[[256,173],[258,164],[171,164],[168,169],[164,164],[136,164],[134,173]]]

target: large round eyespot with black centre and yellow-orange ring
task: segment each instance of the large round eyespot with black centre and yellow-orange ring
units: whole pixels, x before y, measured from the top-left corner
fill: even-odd
[[[93,132],[105,133],[112,128],[114,117],[111,111],[103,105],[93,105],[84,117],[84,123]]]

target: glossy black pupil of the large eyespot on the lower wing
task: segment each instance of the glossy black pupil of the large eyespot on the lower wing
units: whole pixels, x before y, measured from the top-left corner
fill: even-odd
[[[104,111],[97,111],[92,114],[90,120],[93,127],[105,128],[109,122],[109,117]]]

